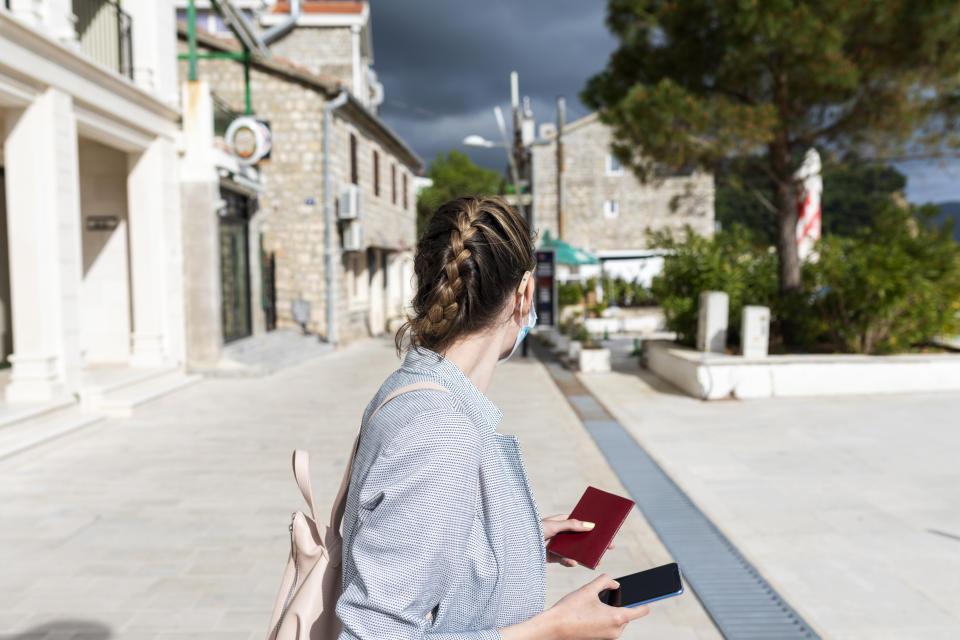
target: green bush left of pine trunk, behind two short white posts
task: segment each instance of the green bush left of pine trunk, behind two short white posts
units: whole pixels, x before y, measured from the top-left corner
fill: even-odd
[[[758,248],[753,235],[740,225],[706,238],[687,227],[685,239],[670,230],[650,233],[651,246],[667,249],[663,271],[651,292],[660,302],[667,328],[677,341],[694,346],[701,291],[724,291],[730,297],[728,338],[739,344],[744,305],[774,306],[777,297],[777,257]]]

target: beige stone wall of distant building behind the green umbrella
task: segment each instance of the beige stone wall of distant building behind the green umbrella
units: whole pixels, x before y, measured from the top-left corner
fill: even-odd
[[[629,170],[609,175],[610,130],[589,122],[564,135],[565,240],[597,251],[647,246],[645,230],[691,225],[698,233],[714,228],[711,174],[669,177],[640,183]],[[557,223],[556,146],[533,148],[534,216],[540,234],[554,237]],[[618,203],[616,217],[605,215],[604,202]]]

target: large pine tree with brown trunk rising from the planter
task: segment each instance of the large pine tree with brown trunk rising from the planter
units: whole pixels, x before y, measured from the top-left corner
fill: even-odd
[[[581,99],[614,153],[641,178],[751,159],[774,191],[784,291],[801,285],[792,175],[807,148],[957,144],[955,0],[609,0],[607,24],[620,46]]]

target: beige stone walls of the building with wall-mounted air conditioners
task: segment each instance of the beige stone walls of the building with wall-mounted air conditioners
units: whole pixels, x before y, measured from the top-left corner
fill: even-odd
[[[348,32],[349,33],[349,32]],[[183,43],[181,43],[182,45]],[[238,113],[244,110],[243,67],[231,60],[199,60],[198,75],[210,82],[214,94]],[[181,61],[181,77],[186,62]],[[326,336],[326,282],[323,193],[323,106],[324,95],[316,88],[291,81],[273,72],[254,67],[251,91],[256,117],[270,123],[273,149],[270,159],[260,163],[265,189],[260,196],[260,231],[266,251],[276,253],[277,326],[292,327],[291,305],[301,298],[310,303],[309,330]],[[332,121],[331,183],[334,202],[350,182],[350,140],[357,136],[359,187],[362,191],[362,220],[367,247],[378,247],[389,255],[409,254],[414,245],[415,208],[410,170],[380,145],[370,131],[335,114]],[[380,196],[373,192],[373,149],[380,155]],[[397,203],[391,202],[390,166],[397,166]],[[402,175],[408,175],[407,208],[402,202]],[[334,229],[334,245],[340,247],[341,224]],[[250,242],[258,238],[251,234]],[[370,296],[351,299],[352,278],[369,279],[366,252],[360,252],[360,273],[348,272],[349,253],[334,255],[334,287],[337,307],[337,339],[348,343],[367,336],[371,330]],[[382,264],[377,254],[376,264]],[[376,277],[376,273],[372,274]],[[251,273],[251,278],[259,278]],[[366,289],[361,288],[363,291]],[[395,296],[394,296],[395,297]],[[262,313],[259,299],[253,313]],[[382,314],[389,319],[400,313],[388,305]],[[376,323],[372,329],[382,332]]]

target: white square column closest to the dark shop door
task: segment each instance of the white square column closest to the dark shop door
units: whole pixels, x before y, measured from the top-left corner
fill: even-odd
[[[130,275],[133,293],[133,336],[130,364],[155,367],[167,364],[165,316],[168,251],[164,214],[169,192],[169,143],[158,138],[139,154],[131,154],[127,174],[127,211],[130,225]]]

